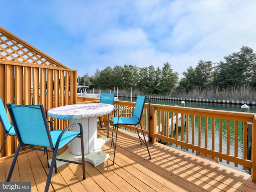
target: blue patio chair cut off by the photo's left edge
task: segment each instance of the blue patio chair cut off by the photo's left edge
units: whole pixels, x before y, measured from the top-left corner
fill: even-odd
[[[4,142],[3,142],[2,146],[1,146],[1,149],[0,149],[0,153],[1,153],[2,149],[4,148],[4,144],[6,142],[7,136],[8,135],[16,136],[14,127],[12,126],[12,124],[10,124],[10,120],[9,120],[9,118],[7,116],[7,113],[6,113],[6,110],[4,108],[2,98],[0,98],[0,122],[2,124],[3,129],[4,129],[4,132],[6,134],[6,136],[4,138]]]

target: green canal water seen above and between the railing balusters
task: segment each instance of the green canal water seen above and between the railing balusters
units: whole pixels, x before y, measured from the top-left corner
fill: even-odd
[[[130,98],[119,98],[119,100],[123,100],[123,101],[131,101]],[[132,98],[132,101],[133,102],[136,102],[136,98]],[[146,103],[148,103],[148,100],[146,100]],[[163,104],[163,105],[171,105],[171,106],[174,106],[174,105],[178,105],[178,106],[181,106],[181,101],[178,101],[178,100],[159,100],[159,99],[150,99],[150,103],[151,104]],[[220,104],[220,103],[210,103],[210,102],[190,102],[190,101],[186,101],[186,104],[185,104],[186,107],[193,107],[193,108],[204,108],[204,109],[214,109],[214,110],[227,110],[227,111],[239,111],[241,112],[241,105],[237,105],[237,104]],[[250,112],[251,113],[256,113],[256,106],[253,105],[253,106],[249,106],[250,107]],[[225,124],[225,122],[223,122]],[[204,121],[202,121],[202,124],[204,124]],[[211,120],[208,121],[208,124],[211,125]],[[180,125],[179,125],[180,126]],[[218,120],[216,120],[216,124],[215,124],[215,129],[216,129],[216,133],[218,133]],[[225,125],[223,125],[225,126]],[[197,126],[196,126],[197,127]],[[202,127],[204,127],[204,125],[202,125]],[[232,129],[232,122],[230,122],[230,128]],[[192,130],[191,128],[189,130]],[[210,131],[211,129],[209,129],[208,131]],[[238,130],[239,133],[238,133],[238,156],[239,157],[242,157],[242,154],[243,154],[243,136],[242,136],[242,124],[238,126]],[[203,130],[202,130],[203,132]],[[219,135],[215,133],[215,141],[218,141],[219,139]],[[232,138],[232,130],[230,130],[230,138]],[[171,134],[171,133],[170,133]],[[175,134],[175,133],[174,133]],[[189,135],[192,135],[192,132],[189,133]],[[224,135],[224,134],[223,134]],[[211,136],[211,133],[209,133],[208,136]],[[234,136],[234,135],[233,135]],[[179,138],[180,138],[180,135],[179,135]],[[184,135],[184,138],[186,138],[186,132],[185,132],[185,135]],[[202,139],[202,138],[201,138]],[[209,139],[209,138],[208,138]],[[226,150],[226,146],[225,146],[225,140],[226,138],[222,138],[223,140],[223,147],[222,147],[222,150],[223,152],[225,152]],[[232,146],[232,141],[230,141],[230,147]],[[203,144],[204,144],[204,140],[201,140],[201,144],[202,144],[202,147]],[[211,148],[210,146],[211,144],[211,141],[208,140],[208,148]],[[176,148],[175,145],[173,146],[170,146],[172,148]],[[215,149],[218,150],[218,143],[215,144]],[[186,149],[181,149],[180,147],[178,147],[177,149],[179,150],[182,150],[184,152],[188,152],[190,154],[194,154],[196,155],[195,152],[192,152],[192,150],[186,150]],[[230,148],[230,154],[232,154],[232,148]],[[235,167],[234,166],[234,163],[230,162],[230,164],[227,164],[226,163],[226,160],[222,160],[222,162],[219,161],[219,164],[223,164],[225,166],[228,166],[230,168],[234,168],[236,170],[240,170],[242,172],[246,172],[248,174],[250,174],[250,169],[248,170],[244,170],[242,166],[238,165],[238,167]]]

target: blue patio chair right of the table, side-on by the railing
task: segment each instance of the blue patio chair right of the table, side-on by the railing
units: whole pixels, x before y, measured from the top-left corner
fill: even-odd
[[[114,165],[114,161],[115,161],[116,140],[117,140],[117,132],[118,132],[118,126],[119,125],[134,125],[135,128],[136,128],[136,131],[138,133],[138,136],[139,136],[140,144],[142,145],[142,142],[143,142],[146,145],[147,149],[148,149],[148,145],[147,145],[147,142],[146,142],[146,139],[145,139],[145,136],[144,136],[143,128],[142,128],[142,125],[141,125],[141,122],[140,122],[141,118],[142,118],[142,112],[143,112],[143,109],[144,109],[145,100],[146,100],[146,96],[140,96],[140,95],[137,96],[137,100],[136,100],[136,104],[135,104],[135,108],[134,108],[133,113],[132,113],[131,110],[126,109],[126,108],[118,108],[114,111],[114,117],[112,118],[112,120],[113,120],[113,130],[112,130],[112,140],[111,140],[111,147],[110,147],[110,148],[112,148],[112,144],[113,144],[113,147],[114,147],[113,165]],[[119,116],[116,116],[116,112],[118,110],[128,110],[129,113],[122,113]],[[139,135],[138,128],[137,128],[138,124],[140,124],[140,128],[142,130],[142,135],[143,135],[144,140],[142,140],[142,138]],[[116,127],[115,142],[114,142],[114,139],[113,139],[114,126]],[[151,159],[149,150],[148,150],[148,155],[149,155],[149,158]]]

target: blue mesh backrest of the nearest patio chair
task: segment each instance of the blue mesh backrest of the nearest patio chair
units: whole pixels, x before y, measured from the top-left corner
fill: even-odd
[[[43,105],[6,104],[21,145],[51,147],[52,139]]]

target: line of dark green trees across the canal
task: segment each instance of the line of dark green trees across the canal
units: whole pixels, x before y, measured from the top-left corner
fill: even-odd
[[[102,89],[138,89],[145,94],[171,95],[178,90],[189,93],[195,88],[207,90],[215,87],[222,91],[230,87],[256,86],[256,54],[253,49],[242,46],[239,52],[224,56],[224,60],[213,63],[200,60],[195,68],[190,66],[178,78],[172,66],[166,62],[162,68],[139,68],[136,65],[106,67],[96,70],[94,76],[88,74],[78,77],[80,84],[89,85],[89,89],[101,87]],[[85,81],[85,82],[84,82]]]

